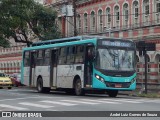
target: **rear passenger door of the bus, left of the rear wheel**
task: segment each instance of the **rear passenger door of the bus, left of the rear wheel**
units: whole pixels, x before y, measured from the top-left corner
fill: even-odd
[[[35,85],[35,52],[30,53],[30,74],[29,74],[29,86]]]

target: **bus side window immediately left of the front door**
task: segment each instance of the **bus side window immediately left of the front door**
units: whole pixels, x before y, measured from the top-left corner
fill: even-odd
[[[75,63],[83,63],[84,61],[84,46],[76,47]]]

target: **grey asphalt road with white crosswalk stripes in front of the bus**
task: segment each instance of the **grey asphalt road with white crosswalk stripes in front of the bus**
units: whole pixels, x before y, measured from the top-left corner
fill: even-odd
[[[118,95],[116,98],[110,98],[108,95],[104,94],[87,94],[85,96],[74,96],[66,95],[64,92],[51,92],[49,94],[37,93],[34,89],[28,88],[13,88],[0,89],[0,112],[4,111],[15,111],[21,114],[25,111],[39,111],[40,113],[44,111],[49,111],[50,116],[57,114],[62,117],[47,117],[45,119],[55,119],[64,120],[68,118],[71,119],[87,119],[87,120],[97,120],[97,119],[107,119],[107,120],[133,120],[133,119],[148,119],[148,120],[158,120],[157,117],[99,117],[100,114],[111,114],[111,113],[134,113],[136,111],[160,111],[160,99],[152,98],[140,98],[131,97],[125,95]],[[73,111],[66,113],[64,111]],[[88,117],[81,117],[78,112],[75,111],[90,111],[92,113]],[[108,112],[109,111],[109,112]],[[125,112],[124,112],[125,111]],[[46,112],[46,113],[47,113]],[[118,115],[117,113],[117,115]],[[158,112],[160,114],[160,112]],[[48,113],[49,114],[49,113]],[[75,117],[64,117],[66,114]],[[138,113],[139,114],[139,113]],[[142,115],[142,113],[140,113]],[[64,116],[63,116],[64,115]],[[83,115],[83,114],[82,114]],[[92,115],[94,117],[92,117]],[[125,114],[124,114],[125,115]],[[121,115],[122,116],[122,115]],[[2,118],[0,118],[1,120]],[[9,120],[9,118],[3,118]],[[22,118],[10,118],[10,119],[22,119]],[[23,118],[27,119],[27,118]],[[33,119],[33,118],[32,118]],[[34,118],[39,120],[40,118]],[[44,119],[44,118],[42,118]]]

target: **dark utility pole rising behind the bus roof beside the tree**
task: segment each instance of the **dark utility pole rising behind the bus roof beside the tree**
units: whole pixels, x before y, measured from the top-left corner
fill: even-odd
[[[72,0],[72,4],[73,4],[73,19],[74,19],[74,36],[77,36],[77,25],[76,25],[76,0]]]

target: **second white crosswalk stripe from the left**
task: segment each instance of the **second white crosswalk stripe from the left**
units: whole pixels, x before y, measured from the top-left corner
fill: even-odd
[[[40,107],[40,108],[51,108],[51,107],[54,107],[54,106],[41,105],[41,104],[29,103],[29,102],[21,102],[21,103],[18,103],[18,104],[26,105],[26,106],[33,106],[33,107]]]

